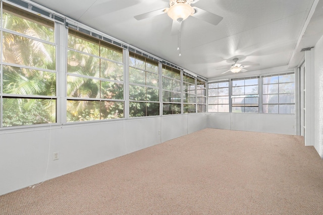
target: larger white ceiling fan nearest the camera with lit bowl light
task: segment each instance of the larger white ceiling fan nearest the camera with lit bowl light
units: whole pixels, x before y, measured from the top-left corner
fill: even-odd
[[[136,20],[143,20],[160,14],[167,14],[174,21],[182,22],[189,16],[192,16],[212,25],[218,25],[223,17],[191,6],[191,4],[195,4],[198,1],[199,0],[170,0],[169,8],[163,8],[156,11],[140,14],[135,16],[134,18]]]

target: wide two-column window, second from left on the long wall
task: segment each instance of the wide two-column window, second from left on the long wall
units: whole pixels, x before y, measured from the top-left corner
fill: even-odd
[[[123,50],[69,30],[67,122],[124,117]]]

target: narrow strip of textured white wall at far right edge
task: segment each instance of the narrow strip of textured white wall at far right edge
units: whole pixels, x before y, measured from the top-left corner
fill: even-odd
[[[323,36],[314,48],[314,147],[323,159]]]

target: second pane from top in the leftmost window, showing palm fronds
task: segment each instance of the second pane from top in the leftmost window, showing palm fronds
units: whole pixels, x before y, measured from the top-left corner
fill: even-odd
[[[56,47],[3,32],[3,61],[37,68],[56,69]]]

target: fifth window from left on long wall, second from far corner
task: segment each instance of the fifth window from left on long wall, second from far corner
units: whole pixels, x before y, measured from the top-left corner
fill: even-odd
[[[183,110],[184,113],[196,112],[195,79],[187,74],[183,75]]]

